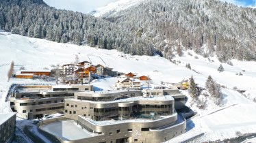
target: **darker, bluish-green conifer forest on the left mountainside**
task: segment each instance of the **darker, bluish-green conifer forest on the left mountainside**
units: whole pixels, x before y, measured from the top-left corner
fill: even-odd
[[[53,42],[88,44],[130,54],[154,55],[152,43],[133,39],[113,22],[88,14],[57,10],[42,0],[0,0],[0,29]],[[134,48],[138,44],[140,48]]]

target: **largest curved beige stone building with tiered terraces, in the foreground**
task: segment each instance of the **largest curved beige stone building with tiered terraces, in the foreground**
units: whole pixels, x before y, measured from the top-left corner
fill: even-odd
[[[186,131],[185,118],[176,112],[185,106],[178,90],[81,92],[64,106],[66,118],[95,135],[64,142],[157,143]]]

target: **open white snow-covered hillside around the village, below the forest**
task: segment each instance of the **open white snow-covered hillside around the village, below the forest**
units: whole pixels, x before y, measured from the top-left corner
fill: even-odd
[[[207,76],[211,75],[216,82],[227,88],[222,88],[223,106],[218,107],[209,103],[206,110],[200,110],[192,105],[192,109],[199,113],[191,121],[188,121],[188,133],[183,134],[183,138],[193,136],[195,133],[204,132],[205,135],[199,138],[200,141],[218,140],[224,138],[234,138],[237,131],[241,133],[256,133],[256,104],[253,98],[246,98],[244,95],[233,91],[233,87],[246,90],[246,95],[256,97],[256,62],[235,61],[233,66],[222,63],[224,72],[218,72],[220,62],[216,58],[209,61],[199,55],[188,55],[185,52],[183,57],[176,57],[176,61],[181,63],[171,63],[167,59],[159,56],[130,56],[116,50],[102,50],[90,48],[88,46],[75,46],[72,44],[57,44],[44,39],[34,39],[21,35],[11,35],[10,33],[0,33],[0,112],[11,112],[9,103],[5,103],[5,95],[12,83],[46,83],[40,80],[17,80],[11,79],[7,82],[7,73],[11,61],[26,69],[51,68],[51,65],[72,63],[77,54],[80,61],[91,61],[93,64],[101,63],[113,67],[118,72],[135,72],[139,75],[150,76],[155,84],[163,82],[181,82],[194,76],[195,82],[199,86],[205,86]],[[194,56],[199,57],[198,59]],[[214,62],[212,61],[214,60]],[[190,63],[192,69],[185,67]],[[243,76],[236,74],[242,73]],[[111,90],[117,78],[106,78],[93,80],[92,84],[99,89]],[[187,91],[183,93],[188,95]],[[190,105],[190,97],[188,106]],[[181,136],[181,137],[182,137]],[[183,138],[181,138],[183,140]],[[180,140],[181,140],[180,139]],[[179,137],[176,139],[179,140]]]

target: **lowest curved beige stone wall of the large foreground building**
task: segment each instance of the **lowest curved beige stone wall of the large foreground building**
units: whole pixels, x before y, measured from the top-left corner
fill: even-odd
[[[138,123],[123,123],[123,124],[112,124],[112,125],[97,125],[95,129],[99,129],[101,132],[98,136],[90,137],[90,138],[84,138],[80,140],[60,140],[62,143],[84,143],[84,142],[106,142],[106,143],[119,143],[120,139],[125,139],[129,143],[138,143],[138,142],[146,142],[146,143],[160,143],[160,142],[166,142],[167,140],[170,140],[172,138],[175,138],[182,133],[185,133],[186,131],[186,122],[185,118],[183,118],[181,115],[175,115],[176,117],[181,120],[179,122],[174,122],[169,125],[164,125],[159,128],[149,128],[149,130],[142,130],[146,127],[157,127],[163,125],[162,122],[168,123],[168,119],[165,120],[158,120],[154,122],[144,123],[144,122],[138,122]],[[173,116],[174,117],[174,116]],[[175,118],[176,118],[175,117]],[[79,117],[79,125],[83,128],[86,127],[86,123],[84,122],[83,117]],[[93,123],[89,123],[93,126]],[[152,125],[155,124],[155,125]],[[100,127],[102,126],[102,127]]]

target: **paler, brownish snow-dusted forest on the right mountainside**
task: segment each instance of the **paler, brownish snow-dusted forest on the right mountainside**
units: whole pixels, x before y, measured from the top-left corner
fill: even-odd
[[[216,0],[145,0],[105,18],[149,39],[166,58],[180,49],[204,57],[256,60],[256,9]]]

